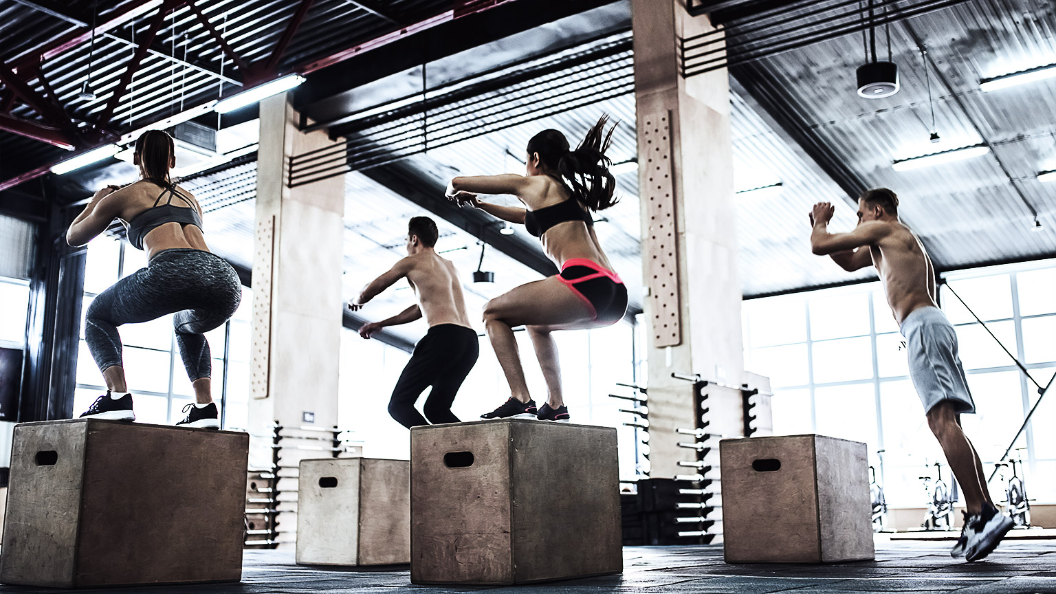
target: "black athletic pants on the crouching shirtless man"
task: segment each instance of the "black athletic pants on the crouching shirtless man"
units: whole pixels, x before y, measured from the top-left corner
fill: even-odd
[[[430,328],[425,338],[415,345],[411,360],[396,382],[389,401],[389,414],[408,429],[430,423],[458,423],[458,417],[451,412],[451,404],[479,354],[480,346],[472,329],[453,323]],[[433,389],[426,398],[422,407],[426,415],[422,416],[414,403],[429,386]]]

